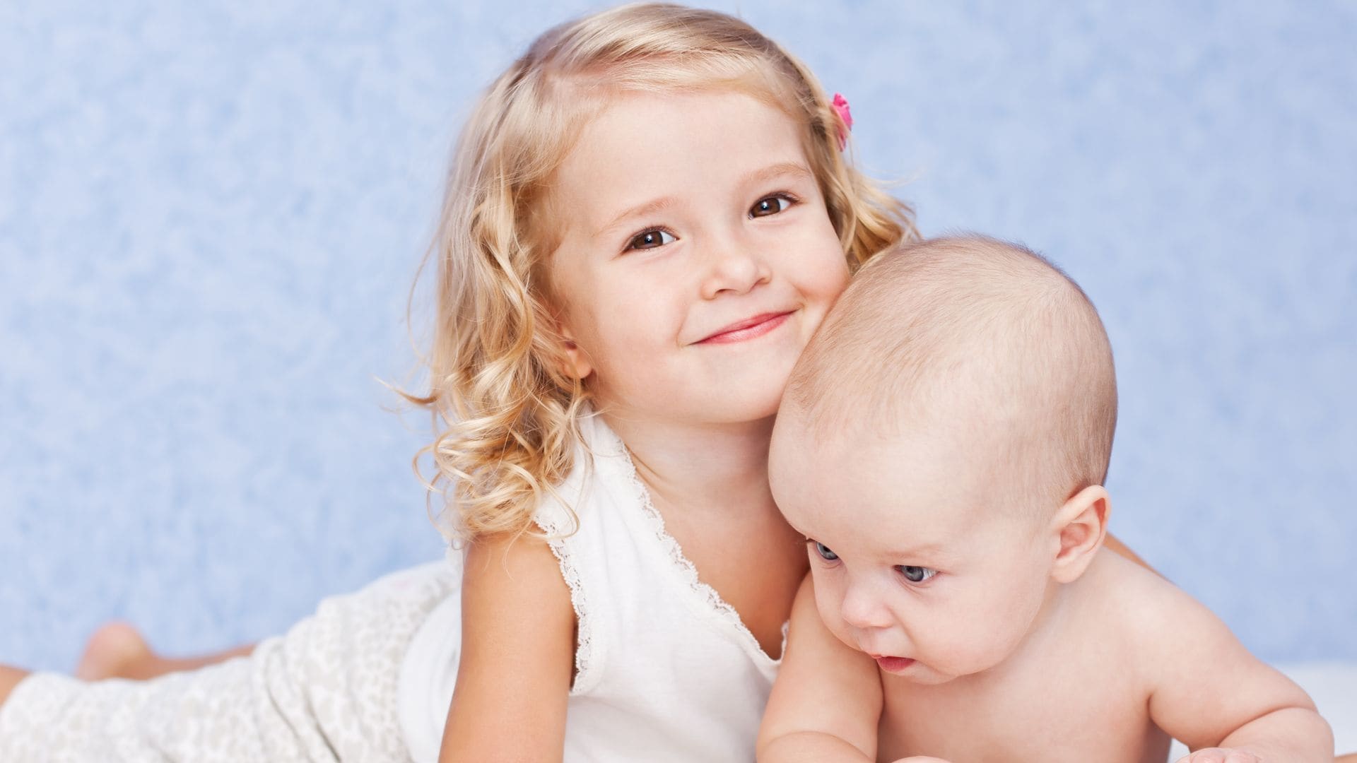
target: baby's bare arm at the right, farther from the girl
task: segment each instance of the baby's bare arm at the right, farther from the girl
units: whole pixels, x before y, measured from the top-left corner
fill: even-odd
[[[1334,759],[1334,737],[1310,696],[1262,663],[1220,618],[1172,585],[1155,581],[1158,612],[1141,637],[1152,645],[1149,714],[1190,749],[1189,760],[1225,760],[1212,749],[1285,763]],[[1205,748],[1205,749],[1204,749]]]

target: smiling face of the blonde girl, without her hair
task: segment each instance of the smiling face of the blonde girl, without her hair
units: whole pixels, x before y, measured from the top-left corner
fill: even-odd
[[[798,125],[731,91],[620,95],[552,191],[560,330],[600,406],[771,417],[848,282]]]

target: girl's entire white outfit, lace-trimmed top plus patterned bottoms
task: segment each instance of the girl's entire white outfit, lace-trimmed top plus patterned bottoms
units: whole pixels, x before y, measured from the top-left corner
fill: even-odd
[[[752,760],[778,663],[697,580],[616,434],[597,417],[582,429],[593,458],[536,515],[579,620],[565,759]],[[460,554],[449,562],[327,599],[212,668],[30,676],[0,707],[0,760],[432,763],[460,646]]]

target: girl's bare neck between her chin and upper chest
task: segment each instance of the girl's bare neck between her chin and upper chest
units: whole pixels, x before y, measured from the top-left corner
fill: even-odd
[[[626,443],[657,505],[776,512],[768,489],[772,417],[742,424],[603,418]]]

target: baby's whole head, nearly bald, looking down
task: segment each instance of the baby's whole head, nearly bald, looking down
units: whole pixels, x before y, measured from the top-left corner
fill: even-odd
[[[1001,663],[1102,543],[1115,420],[1102,322],[1049,262],[984,238],[879,255],[792,372],[769,456],[826,626],[923,683]]]

